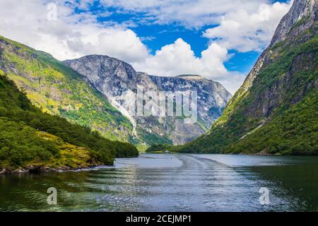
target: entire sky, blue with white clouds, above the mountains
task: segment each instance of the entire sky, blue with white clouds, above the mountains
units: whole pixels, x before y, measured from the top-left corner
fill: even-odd
[[[102,54],[156,76],[198,74],[230,93],[290,0],[0,0],[0,35],[59,60]]]

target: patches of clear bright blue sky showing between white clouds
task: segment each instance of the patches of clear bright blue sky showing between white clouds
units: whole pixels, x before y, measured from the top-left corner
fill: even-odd
[[[269,4],[275,2],[286,3],[288,0],[271,0]],[[121,9],[120,7],[105,7],[100,4],[100,1],[95,1],[90,6],[89,11],[96,13],[97,15],[106,12],[112,12],[110,16],[98,17],[99,22],[114,21],[116,23],[126,23],[126,21],[134,22],[133,25],[127,25],[127,28],[134,30],[139,37],[146,44],[151,54],[155,54],[155,51],[160,50],[161,47],[175,42],[178,38],[182,38],[185,42],[192,46],[192,50],[196,57],[201,57],[201,52],[208,47],[208,38],[203,36],[203,33],[208,28],[216,27],[217,25],[204,25],[200,28],[187,28],[179,23],[170,23],[165,25],[158,24],[142,24],[139,20],[143,18],[146,13],[117,13]],[[81,10],[79,10],[81,11]],[[83,10],[82,10],[83,11]],[[147,15],[146,15],[147,16]],[[248,73],[257,58],[260,55],[259,51],[249,52],[237,52],[235,49],[230,50],[232,57],[225,62],[225,67],[228,71],[238,71],[240,73]]]

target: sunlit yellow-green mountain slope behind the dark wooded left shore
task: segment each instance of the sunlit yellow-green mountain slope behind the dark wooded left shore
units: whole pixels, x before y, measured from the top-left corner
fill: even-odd
[[[45,52],[0,36],[0,69],[33,105],[113,141],[129,141],[132,125],[81,75]]]

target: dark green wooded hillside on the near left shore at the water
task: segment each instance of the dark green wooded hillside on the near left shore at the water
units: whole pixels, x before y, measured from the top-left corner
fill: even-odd
[[[0,168],[112,165],[114,157],[139,155],[129,143],[43,113],[1,70],[0,129]]]

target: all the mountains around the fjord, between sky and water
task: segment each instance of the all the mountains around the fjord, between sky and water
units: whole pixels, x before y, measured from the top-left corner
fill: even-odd
[[[0,36],[0,172],[112,165],[149,147],[318,155],[317,11],[294,1],[233,97],[199,75],[149,75],[102,55],[61,62]],[[197,121],[131,114],[137,87],[196,91]]]

